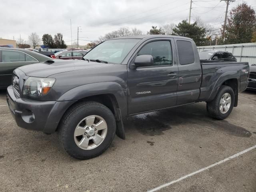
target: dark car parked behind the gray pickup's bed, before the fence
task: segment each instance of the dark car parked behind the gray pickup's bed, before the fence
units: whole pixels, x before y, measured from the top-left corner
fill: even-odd
[[[202,51],[199,52],[200,60],[229,61],[236,62],[232,53],[227,51]]]

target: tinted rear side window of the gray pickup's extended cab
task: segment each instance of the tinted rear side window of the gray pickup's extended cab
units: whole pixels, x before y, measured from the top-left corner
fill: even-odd
[[[192,43],[190,41],[177,40],[178,54],[181,65],[187,65],[195,62],[195,55]]]

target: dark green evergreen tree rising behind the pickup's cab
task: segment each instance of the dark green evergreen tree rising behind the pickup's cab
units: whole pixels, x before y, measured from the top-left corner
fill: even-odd
[[[189,24],[187,20],[176,25],[172,35],[192,38],[197,46],[202,46],[207,41],[206,29],[198,26],[196,22]]]

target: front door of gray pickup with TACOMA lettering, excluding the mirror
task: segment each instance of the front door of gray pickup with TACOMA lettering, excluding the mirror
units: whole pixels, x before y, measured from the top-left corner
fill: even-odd
[[[139,55],[152,55],[154,64],[135,69],[128,66],[128,114],[175,106],[178,67],[173,39],[147,40],[130,65]]]

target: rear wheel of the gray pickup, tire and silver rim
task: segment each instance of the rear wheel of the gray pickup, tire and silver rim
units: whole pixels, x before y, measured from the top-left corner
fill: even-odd
[[[230,86],[222,85],[214,100],[206,103],[209,115],[215,119],[225,119],[234,107],[235,94]]]

